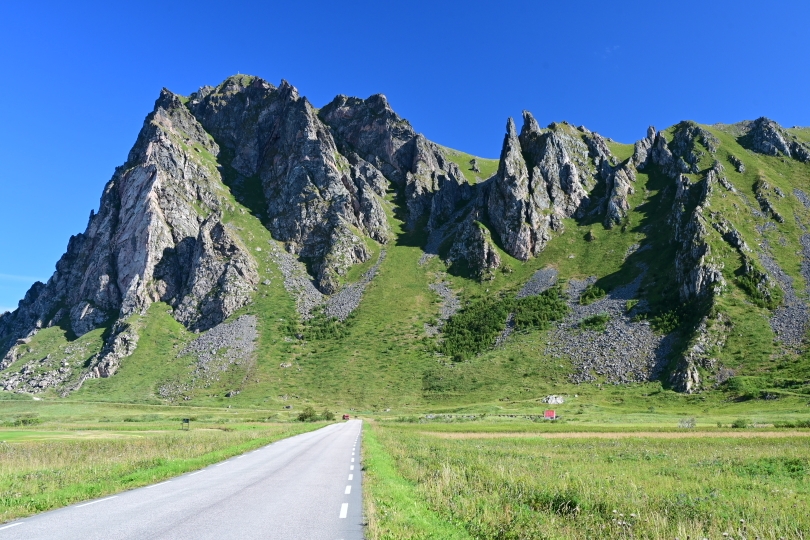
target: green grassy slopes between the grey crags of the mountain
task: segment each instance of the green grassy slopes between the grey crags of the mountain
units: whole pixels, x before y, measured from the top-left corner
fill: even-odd
[[[810,224],[810,213],[792,192],[795,187],[810,191],[810,166],[754,154],[741,147],[733,135],[710,126],[703,127],[711,131],[721,145],[714,158],[704,153],[701,169],[710,168],[713,159],[719,160],[725,166],[729,181],[753,205],[757,204],[757,182],[766,181],[786,194],[783,198],[771,199],[777,211],[786,217],[785,222],[768,228],[762,227],[766,220],[754,217],[740,195],[720,186],[715,187],[710,206],[705,209],[706,215],[722,213],[754,248],[767,240],[774,260],[793,278],[796,291],[804,295],[806,284],[801,273],[800,243],[804,232],[800,222]],[[806,131],[793,130],[799,137],[807,136]],[[611,143],[610,147],[620,159],[632,154],[632,145]],[[216,159],[204,149],[198,154],[209,166],[218,166]],[[730,155],[745,164],[744,174],[734,170]],[[497,168],[497,160],[479,158],[481,172],[473,173],[469,164],[472,156],[453,150],[448,150],[448,156],[459,164],[471,182],[477,181],[476,176],[490,176]],[[692,181],[699,181],[699,175],[690,176]],[[227,173],[225,180],[227,183]],[[650,394],[670,393],[662,394],[657,382],[612,391],[612,394],[625,396],[623,398],[607,397],[599,386],[571,384],[569,363],[549,359],[544,353],[545,330],[513,334],[502,347],[487,350],[466,362],[454,363],[438,356],[434,351],[436,338],[428,337],[424,329],[426,323],[435,322],[440,311],[440,298],[429,285],[447,280],[462,304],[470,305],[484,297],[515,294],[541,268],[555,268],[561,280],[596,276],[597,285],[608,292],[629,283],[646,268],[640,296],[649,302],[651,316],[676,309],[679,301],[674,290],[674,246],[667,223],[674,200],[671,184],[655,171],[639,173],[624,223],[607,229],[601,216],[565,220],[565,231],[553,238],[540,256],[529,261],[516,260],[496,247],[505,265],[486,281],[448,274],[445,264],[435,257],[420,265],[425,234],[404,229],[403,222],[396,217],[395,198],[391,194],[389,224],[395,240],[387,246],[374,245],[375,256],[364,265],[352,268],[344,281],[357,280],[374,264],[380,250],[385,249],[387,256],[380,272],[352,316],[343,323],[328,324],[319,319],[299,320],[295,302],[284,289],[283,276],[270,255],[276,243],[262,224],[260,212],[251,210],[259,207],[251,205],[250,199],[261,196],[260,190],[255,186],[251,189],[250,185],[223,185],[222,196],[227,201],[225,221],[259,263],[261,282],[254,302],[232,319],[244,314],[258,317],[258,348],[255,362],[230,366],[211,386],[186,392],[185,401],[199,406],[280,408],[291,405],[298,409],[313,403],[377,411],[425,407],[459,410],[467,406],[495,411],[517,404],[541,409],[543,405],[537,400],[542,396],[577,393],[584,399],[590,396],[587,399],[592,403],[626,399],[642,410]],[[797,219],[793,219],[794,215]],[[727,283],[726,290],[716,300],[715,309],[728,315],[733,329],[725,346],[716,351],[718,361],[733,370],[738,379],[742,377],[743,382],[746,376],[757,377],[749,381],[757,389],[778,389],[787,397],[806,399],[801,397],[807,391],[806,385],[796,381],[806,379],[810,373],[807,353],[775,354],[778,347],[768,323],[771,311],[756,306],[735,284],[741,264],[738,253],[710,227],[708,241],[712,256],[722,263]],[[633,248],[639,249],[633,251]],[[632,254],[628,255],[630,252]],[[189,378],[193,359],[178,358],[178,353],[197,337],[174,321],[168,309],[167,305],[156,303],[134,322],[141,328],[138,349],[122,362],[114,377],[88,380],[68,399],[166,402],[160,397],[159,389],[166,384],[181,384]],[[688,341],[686,318],[682,317],[682,336],[675,348],[676,354]],[[28,344],[24,359],[37,355],[56,356],[68,347],[81,345],[84,348],[80,356],[83,357],[77,361],[83,362],[100,347],[103,331],[99,329],[71,341],[58,327],[44,330]],[[298,339],[296,334],[304,339]],[[289,367],[283,367],[288,364]],[[793,382],[785,385],[782,379]],[[780,384],[781,389],[777,388]],[[724,388],[728,388],[728,384]],[[740,390],[742,386],[734,388],[739,392],[733,395],[744,393]],[[226,397],[228,393],[233,397]],[[45,396],[54,396],[54,393],[50,391]],[[721,397],[710,398],[710,401],[720,403]]]

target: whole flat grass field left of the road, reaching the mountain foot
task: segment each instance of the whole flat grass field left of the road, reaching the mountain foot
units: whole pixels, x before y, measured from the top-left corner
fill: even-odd
[[[181,418],[191,419],[190,430],[180,430]],[[153,484],[324,424],[256,410],[13,400],[0,401],[0,425],[4,522]]]

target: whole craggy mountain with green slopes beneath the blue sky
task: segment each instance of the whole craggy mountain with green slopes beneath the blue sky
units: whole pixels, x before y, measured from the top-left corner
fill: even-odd
[[[509,119],[498,160],[385,96],[164,89],[85,232],[0,315],[0,387],[69,399],[807,391],[810,129],[619,144]],[[506,396],[506,397],[503,397]]]

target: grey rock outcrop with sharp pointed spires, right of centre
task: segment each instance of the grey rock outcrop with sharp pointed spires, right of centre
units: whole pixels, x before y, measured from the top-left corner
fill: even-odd
[[[607,142],[585,128],[552,124],[541,129],[529,112],[520,135],[510,119],[506,126],[498,173],[489,186],[489,222],[503,248],[526,260],[540,253],[562,220],[605,211],[605,223],[621,222],[629,211],[635,170],[616,165]],[[589,193],[605,186],[603,200]]]

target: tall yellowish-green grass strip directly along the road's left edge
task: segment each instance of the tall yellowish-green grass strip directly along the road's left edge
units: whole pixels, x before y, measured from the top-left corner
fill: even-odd
[[[153,484],[323,425],[117,432],[117,438],[66,433],[50,440],[24,440],[14,431],[15,442],[0,431],[0,523]]]

